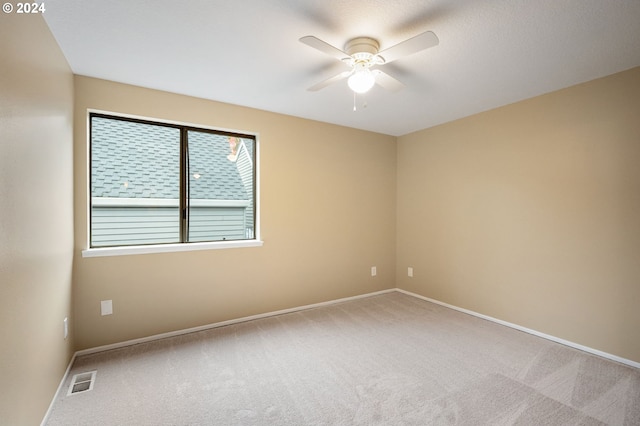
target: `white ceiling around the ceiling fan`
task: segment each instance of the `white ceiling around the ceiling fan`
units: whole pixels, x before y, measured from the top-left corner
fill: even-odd
[[[640,66],[639,0],[55,0],[76,74],[399,136]],[[298,41],[440,44],[383,66],[406,87],[358,99],[346,66]],[[366,102],[366,107],[363,107]]]

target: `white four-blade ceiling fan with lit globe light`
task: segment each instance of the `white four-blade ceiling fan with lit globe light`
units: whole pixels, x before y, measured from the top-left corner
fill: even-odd
[[[307,46],[311,46],[329,56],[339,59],[351,68],[348,71],[341,72],[338,75],[321,81],[309,87],[307,90],[315,92],[337,81],[348,78],[347,83],[349,88],[355,93],[365,93],[371,89],[375,83],[391,91],[402,89],[404,84],[375,67],[437,46],[439,43],[438,37],[431,31],[418,34],[381,52],[379,51],[380,43],[370,37],[356,37],[349,40],[344,46],[344,51],[314,36],[302,37],[300,41]]]

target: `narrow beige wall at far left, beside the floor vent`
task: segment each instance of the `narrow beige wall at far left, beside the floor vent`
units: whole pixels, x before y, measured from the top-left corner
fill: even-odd
[[[73,76],[38,15],[0,14],[0,424],[42,420],[73,353]]]

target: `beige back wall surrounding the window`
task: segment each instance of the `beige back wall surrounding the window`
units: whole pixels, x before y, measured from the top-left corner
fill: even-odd
[[[75,89],[77,349],[394,287],[394,137],[87,77]],[[82,258],[87,108],[259,133],[264,246]]]

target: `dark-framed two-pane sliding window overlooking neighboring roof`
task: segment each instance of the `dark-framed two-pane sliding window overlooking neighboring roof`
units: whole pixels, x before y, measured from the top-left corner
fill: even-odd
[[[90,114],[90,246],[255,239],[256,139]]]

